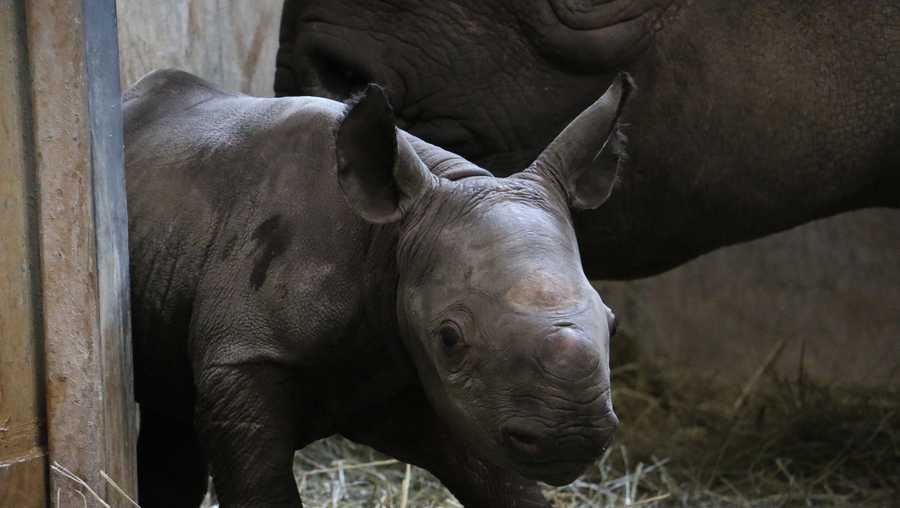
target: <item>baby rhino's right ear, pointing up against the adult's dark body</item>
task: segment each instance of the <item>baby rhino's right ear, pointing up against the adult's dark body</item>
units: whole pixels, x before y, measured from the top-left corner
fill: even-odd
[[[600,99],[584,110],[526,170],[561,187],[569,206],[597,208],[609,198],[623,157],[616,122],[634,89],[620,74]]]

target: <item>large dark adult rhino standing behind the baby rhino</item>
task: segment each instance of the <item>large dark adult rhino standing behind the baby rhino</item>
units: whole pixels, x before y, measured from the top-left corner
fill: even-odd
[[[287,0],[276,94],[388,89],[400,125],[494,171],[628,70],[630,160],[575,215],[591,278],[657,273],[900,206],[896,0]]]

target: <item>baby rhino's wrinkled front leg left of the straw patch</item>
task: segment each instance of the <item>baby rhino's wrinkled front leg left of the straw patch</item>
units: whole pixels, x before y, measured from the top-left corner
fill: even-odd
[[[301,506],[292,470],[292,372],[254,364],[207,367],[196,376],[197,429],[222,507]]]

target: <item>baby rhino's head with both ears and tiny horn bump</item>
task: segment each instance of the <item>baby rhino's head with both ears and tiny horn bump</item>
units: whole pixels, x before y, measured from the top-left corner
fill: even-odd
[[[397,130],[374,85],[336,131],[348,204],[396,223],[397,317],[431,404],[484,459],[553,484],[580,474],[618,425],[615,321],[582,271],[570,208],[609,196],[630,86],[617,79],[507,178]]]

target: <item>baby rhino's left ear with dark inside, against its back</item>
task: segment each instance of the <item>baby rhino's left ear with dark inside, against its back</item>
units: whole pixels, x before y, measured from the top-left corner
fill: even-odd
[[[384,90],[370,84],[347,104],[335,131],[338,184],[363,219],[399,220],[426,189],[431,175],[398,135]]]

